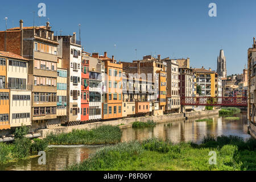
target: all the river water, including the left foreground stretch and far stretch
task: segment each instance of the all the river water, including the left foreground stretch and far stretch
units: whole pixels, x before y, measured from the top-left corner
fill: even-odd
[[[173,143],[195,142],[200,143],[204,136],[212,134],[237,135],[244,139],[250,138],[247,134],[246,113],[237,114],[237,121],[227,121],[218,115],[205,117],[213,118],[213,122],[195,122],[196,119],[187,121],[172,121],[159,123],[154,128],[147,129],[123,129],[122,142],[131,140],[143,140],[152,137],[171,140]],[[46,153],[46,165],[39,165],[38,158],[19,160],[18,162],[0,164],[0,170],[4,171],[59,171],[66,166],[80,163],[90,154],[96,152],[102,146],[51,146]]]

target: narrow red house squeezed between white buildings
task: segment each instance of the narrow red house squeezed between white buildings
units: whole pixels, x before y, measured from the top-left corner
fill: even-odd
[[[82,52],[81,63],[81,122],[89,121],[89,59]]]

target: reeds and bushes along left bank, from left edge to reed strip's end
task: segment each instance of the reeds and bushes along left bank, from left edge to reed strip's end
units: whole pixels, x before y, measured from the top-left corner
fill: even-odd
[[[93,130],[73,130],[68,134],[48,135],[45,139],[25,138],[28,127],[16,129],[13,143],[0,143],[0,163],[36,156],[48,150],[49,144],[115,144],[121,141],[122,131],[117,126],[101,126]]]

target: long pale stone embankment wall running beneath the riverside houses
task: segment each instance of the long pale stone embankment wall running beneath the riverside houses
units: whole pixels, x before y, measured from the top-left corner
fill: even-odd
[[[112,126],[120,126],[120,128],[131,127],[131,124],[136,121],[140,122],[147,122],[148,120],[153,120],[156,123],[167,122],[167,121],[177,121],[182,119],[189,119],[189,118],[199,118],[205,117],[207,115],[215,115],[218,114],[218,110],[209,110],[209,111],[192,111],[189,113],[182,113],[182,114],[166,114],[166,115],[157,115],[157,116],[148,116],[148,117],[137,117],[137,118],[125,118],[125,119],[117,119],[113,121],[106,121],[106,122],[95,122],[95,123],[86,123],[84,125],[79,126],[59,126],[53,129],[43,129],[38,130],[38,133],[41,134],[42,138],[47,137],[48,134],[60,134],[60,133],[70,133],[72,130],[91,130],[99,126],[103,125],[112,125]]]

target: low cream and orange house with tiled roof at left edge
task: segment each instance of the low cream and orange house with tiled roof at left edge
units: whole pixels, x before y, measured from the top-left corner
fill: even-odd
[[[0,129],[10,129],[8,125],[11,128],[31,126],[28,60],[11,52],[0,51],[0,69]]]

